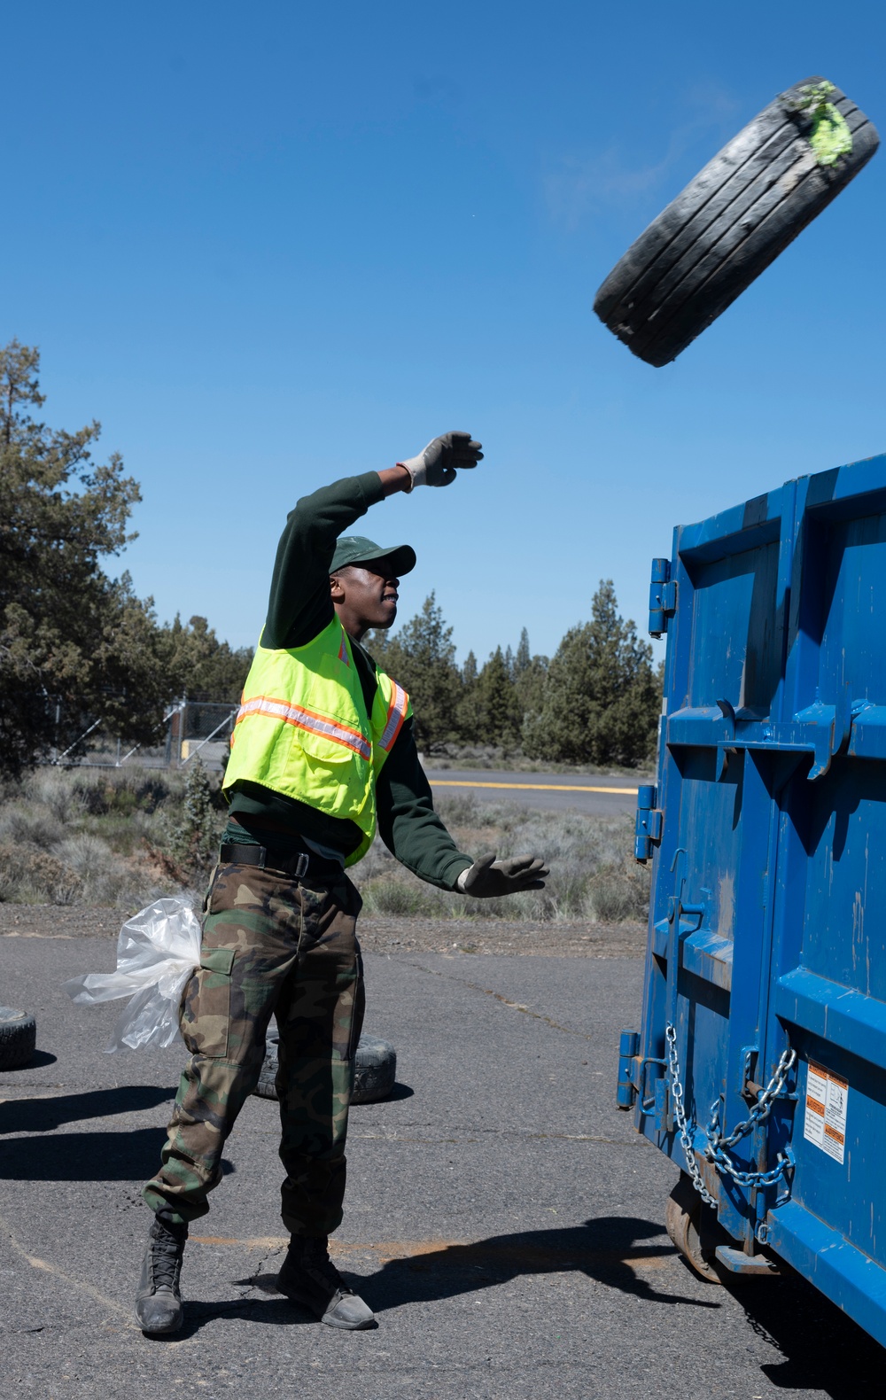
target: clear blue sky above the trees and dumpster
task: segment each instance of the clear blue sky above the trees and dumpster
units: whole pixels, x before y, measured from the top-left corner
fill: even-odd
[[[848,13],[847,13],[848,15]],[[551,651],[670,529],[886,449],[879,153],[673,364],[592,312],[627,245],[813,73],[886,129],[882,6],[206,0],[4,13],[0,337],[141,483],[161,619],[255,641],[298,496],[467,428],[358,526],[463,657]]]

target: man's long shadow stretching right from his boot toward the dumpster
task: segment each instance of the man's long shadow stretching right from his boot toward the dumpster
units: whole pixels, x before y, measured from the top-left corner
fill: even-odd
[[[438,1249],[428,1247],[421,1254],[388,1260],[377,1274],[361,1281],[360,1292],[374,1312],[386,1312],[403,1303],[493,1288],[522,1274],[582,1273],[609,1288],[651,1302],[719,1308],[715,1298],[659,1292],[634,1273],[633,1264],[655,1268],[673,1257],[670,1242],[638,1243],[663,1233],[663,1226],[654,1221],[607,1215],[571,1229],[494,1235],[472,1245],[441,1242]]]

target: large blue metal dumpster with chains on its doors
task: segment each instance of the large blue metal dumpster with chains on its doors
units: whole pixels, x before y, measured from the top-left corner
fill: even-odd
[[[886,1345],[886,456],[675,531],[642,1026],[619,1105],[698,1271],[787,1261]]]

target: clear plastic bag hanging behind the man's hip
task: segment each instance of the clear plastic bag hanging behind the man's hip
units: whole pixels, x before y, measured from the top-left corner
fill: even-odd
[[[185,983],[200,966],[200,921],[186,899],[158,899],[120,928],[116,972],[62,983],[71,1001],[95,1005],[129,997],[105,1046],[143,1050],[181,1039]]]

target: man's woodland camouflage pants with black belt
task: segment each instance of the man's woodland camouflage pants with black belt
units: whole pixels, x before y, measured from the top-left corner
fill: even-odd
[[[143,1196],[193,1221],[221,1180],[221,1152],[255,1089],[272,1014],[280,1029],[283,1222],[342,1222],[344,1138],[363,1025],[360,895],[253,865],[220,865],[206,899],[200,967],[185,988],[182,1074],[161,1168]]]

